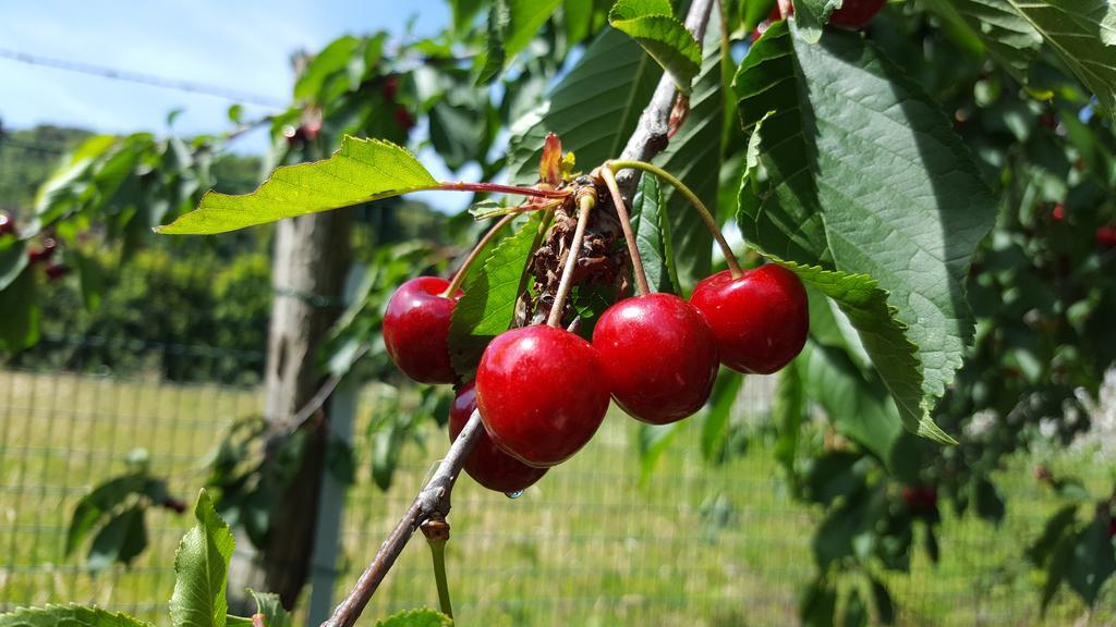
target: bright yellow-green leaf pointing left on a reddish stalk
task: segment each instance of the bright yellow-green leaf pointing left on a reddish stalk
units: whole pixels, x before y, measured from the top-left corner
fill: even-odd
[[[437,181],[406,148],[346,136],[340,149],[326,161],[279,167],[250,194],[208,192],[196,210],[155,230],[224,233],[436,186]]]

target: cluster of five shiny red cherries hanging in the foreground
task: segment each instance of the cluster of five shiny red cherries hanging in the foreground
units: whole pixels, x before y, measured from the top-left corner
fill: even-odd
[[[411,378],[458,383],[449,330],[462,293],[435,277],[406,281],[384,316],[384,344]],[[620,300],[602,315],[593,341],[552,326],[501,334],[450,411],[455,440],[479,408],[485,433],[464,463],[478,483],[516,493],[565,462],[597,432],[609,398],[636,419],[667,424],[700,409],[718,365],[770,374],[802,349],[806,290],[789,270],[767,264],[718,272],[686,301],[671,293]]]

